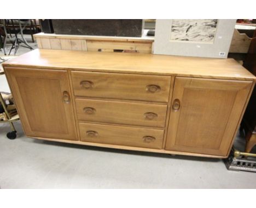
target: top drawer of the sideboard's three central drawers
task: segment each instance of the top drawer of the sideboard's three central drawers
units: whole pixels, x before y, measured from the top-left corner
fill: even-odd
[[[75,96],[168,102],[171,77],[72,71]]]

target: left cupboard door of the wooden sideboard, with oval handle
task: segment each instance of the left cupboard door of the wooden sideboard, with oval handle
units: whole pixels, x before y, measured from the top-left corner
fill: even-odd
[[[78,140],[68,73],[5,68],[27,136]]]

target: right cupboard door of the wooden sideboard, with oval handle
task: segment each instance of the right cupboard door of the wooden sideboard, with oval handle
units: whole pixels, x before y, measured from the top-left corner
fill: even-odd
[[[227,156],[251,85],[176,77],[165,149]]]

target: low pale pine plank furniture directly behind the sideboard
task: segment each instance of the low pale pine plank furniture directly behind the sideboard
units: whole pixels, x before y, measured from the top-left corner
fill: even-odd
[[[38,33],[34,35],[38,48],[73,51],[152,53],[154,38],[90,36],[90,35],[56,35]]]

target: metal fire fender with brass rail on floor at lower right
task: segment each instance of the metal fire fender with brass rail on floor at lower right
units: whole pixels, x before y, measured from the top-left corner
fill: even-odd
[[[256,172],[256,160],[251,157],[256,157],[256,154],[240,152],[232,148],[224,162],[228,170]]]

